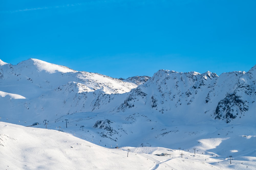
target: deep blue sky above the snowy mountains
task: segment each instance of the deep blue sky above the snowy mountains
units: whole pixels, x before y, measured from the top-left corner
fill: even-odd
[[[254,0],[2,0],[0,59],[114,78],[248,71],[256,64],[255,9]]]

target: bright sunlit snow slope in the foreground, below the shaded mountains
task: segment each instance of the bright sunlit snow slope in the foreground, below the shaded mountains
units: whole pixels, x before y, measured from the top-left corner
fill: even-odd
[[[206,142],[206,141],[205,141]],[[251,145],[252,146],[252,145]],[[130,152],[128,153],[128,149]],[[58,130],[0,122],[1,169],[255,169],[256,158],[159,147],[104,148]],[[157,156],[162,154],[165,156]],[[128,157],[127,157],[128,155]],[[182,156],[182,158],[181,158]]]

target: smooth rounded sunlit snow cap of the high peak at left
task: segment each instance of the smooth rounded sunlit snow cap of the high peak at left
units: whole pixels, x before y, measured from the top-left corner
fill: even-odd
[[[52,64],[52,63],[48,63],[42,60],[38,60],[38,59],[34,59],[34,58],[30,58],[28,60],[22,61],[20,63],[18,63],[17,65],[22,66],[22,67],[31,67],[31,66],[35,66],[38,72],[41,71],[46,71],[49,73],[55,73],[55,72],[63,72],[63,73],[67,73],[67,72],[77,72],[75,70],[72,70],[66,66],[61,66],[61,65],[57,65],[57,64]]]

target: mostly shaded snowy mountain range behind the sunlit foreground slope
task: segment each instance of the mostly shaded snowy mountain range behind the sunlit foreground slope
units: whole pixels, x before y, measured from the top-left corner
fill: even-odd
[[[114,79],[37,59],[0,60],[0,120],[62,127],[103,147],[201,148],[228,156],[241,143],[255,142],[255,83],[256,65],[220,76],[159,70]],[[223,148],[226,142],[230,148]],[[232,154],[256,156],[246,146]]]

